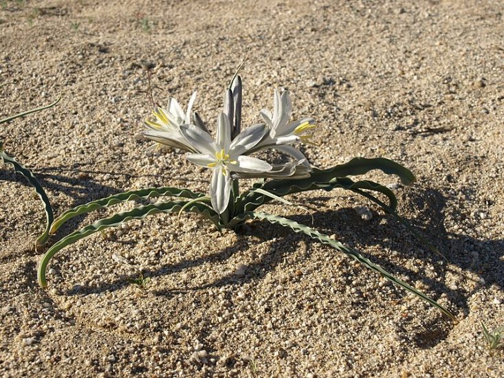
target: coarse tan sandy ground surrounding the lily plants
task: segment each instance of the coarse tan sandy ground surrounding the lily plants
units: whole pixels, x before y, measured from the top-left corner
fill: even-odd
[[[280,226],[220,234],[153,216],[54,258],[36,285],[41,205],[0,167],[0,375],[4,377],[499,377],[480,322],[504,324],[504,15],[501,1],[0,1],[6,149],[56,214],[145,186],[206,191],[177,151],[149,152],[142,119],[175,96],[211,127],[242,71],[245,124],[289,89],[318,121],[320,167],[388,157],[417,175],[390,216],[348,192],[311,192],[314,226],[448,307],[458,324],[329,247]],[[384,184],[395,177],[370,175]],[[365,221],[355,209],[369,206]],[[121,205],[113,209],[128,208]],[[296,208],[265,211],[308,223]],[[111,212],[63,227],[63,236]],[[56,238],[57,238],[56,237]],[[56,238],[53,238],[54,242]],[[239,264],[244,275],[235,274]],[[130,282],[143,271],[144,289]]]

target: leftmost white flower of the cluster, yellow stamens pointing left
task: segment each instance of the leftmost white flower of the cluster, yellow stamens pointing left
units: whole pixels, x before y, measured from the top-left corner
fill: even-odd
[[[198,152],[180,133],[180,126],[191,123],[191,109],[193,108],[195,99],[196,92],[191,96],[187,111],[184,113],[177,100],[169,98],[166,109],[157,108],[153,111],[155,120],[144,121],[145,126],[150,130],[142,131],[142,134],[160,144],[166,144],[167,146],[193,153]],[[199,124],[199,122],[196,123]]]

